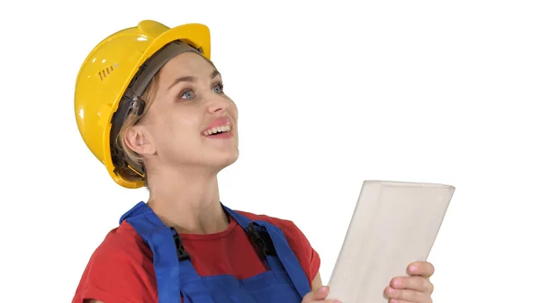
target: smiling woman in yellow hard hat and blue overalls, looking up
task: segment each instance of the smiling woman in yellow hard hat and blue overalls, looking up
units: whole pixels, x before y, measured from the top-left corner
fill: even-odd
[[[206,26],[143,21],[112,34],[85,59],[75,105],[94,156],[121,186],[148,187],[149,200],[95,250],[74,303],[325,301],[319,254],[293,222],[220,203],[217,174],[238,158],[238,111]],[[433,267],[410,269],[387,295],[429,302]]]

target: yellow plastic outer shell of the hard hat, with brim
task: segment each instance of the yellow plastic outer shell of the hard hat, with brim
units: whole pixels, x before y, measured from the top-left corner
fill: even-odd
[[[105,165],[114,182],[125,188],[142,187],[115,172],[111,155],[112,115],[117,111],[131,79],[148,58],[166,44],[182,40],[210,60],[210,31],[189,23],[174,28],[145,20],[117,31],[101,41],[85,58],[76,77],[76,124],[86,146]]]

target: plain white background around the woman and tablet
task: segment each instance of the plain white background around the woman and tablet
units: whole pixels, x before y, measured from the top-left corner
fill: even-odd
[[[85,147],[73,90],[97,42],[154,19],[211,28],[240,114],[221,200],[292,219],[323,281],[364,180],[448,183],[435,302],[540,302],[539,15],[517,0],[1,4],[2,301],[69,302],[147,198]]]

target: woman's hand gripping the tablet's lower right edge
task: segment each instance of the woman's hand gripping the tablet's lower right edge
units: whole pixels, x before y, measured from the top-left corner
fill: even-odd
[[[410,263],[407,268],[409,277],[396,277],[384,290],[390,303],[432,303],[433,284],[429,278],[435,272],[433,264],[428,262]]]

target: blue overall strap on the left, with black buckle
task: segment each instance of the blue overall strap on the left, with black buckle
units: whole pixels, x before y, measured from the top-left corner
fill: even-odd
[[[121,216],[120,223],[124,220],[152,250],[159,303],[181,302],[181,281],[197,280],[200,276],[175,229],[166,227],[142,201]]]

